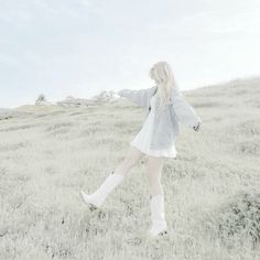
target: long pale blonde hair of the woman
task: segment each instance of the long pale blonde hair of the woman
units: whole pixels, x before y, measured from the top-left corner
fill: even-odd
[[[149,76],[156,83],[160,107],[172,104],[172,91],[180,90],[169,63],[158,62],[149,71]]]

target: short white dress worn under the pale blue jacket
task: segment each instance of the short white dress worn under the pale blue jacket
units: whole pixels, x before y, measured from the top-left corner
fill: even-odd
[[[136,136],[136,138],[131,141],[131,145],[139,149],[141,152],[152,155],[152,156],[165,156],[165,158],[176,158],[177,151],[175,145],[173,144],[169,149],[161,149],[161,150],[151,150],[151,137],[152,137],[152,127],[154,121],[154,107],[155,107],[155,95],[153,95],[150,99],[151,110],[142,126],[142,129]]]

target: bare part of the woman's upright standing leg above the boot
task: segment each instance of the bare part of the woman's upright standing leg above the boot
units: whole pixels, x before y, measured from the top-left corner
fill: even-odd
[[[163,158],[149,156],[147,164],[147,174],[150,182],[151,195],[163,194],[161,184],[161,173],[163,167]]]

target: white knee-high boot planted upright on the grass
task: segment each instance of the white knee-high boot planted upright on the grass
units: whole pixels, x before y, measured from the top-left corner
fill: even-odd
[[[150,207],[152,217],[152,227],[149,229],[148,235],[156,237],[158,235],[167,234],[166,221],[164,219],[164,196],[156,194],[150,196]]]

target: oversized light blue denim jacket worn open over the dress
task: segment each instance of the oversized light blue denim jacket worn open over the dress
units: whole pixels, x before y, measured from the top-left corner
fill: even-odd
[[[150,99],[156,90],[158,86],[140,90],[121,89],[118,91],[118,95],[145,108],[144,122],[151,110]],[[197,116],[193,107],[185,100],[180,90],[175,88],[172,90],[172,102],[171,105],[166,105],[163,109],[160,109],[159,107],[159,95],[155,97],[154,122],[150,149],[160,150],[172,147],[176,137],[180,134],[178,122],[192,129],[197,126],[198,122],[202,123],[201,117]]]

